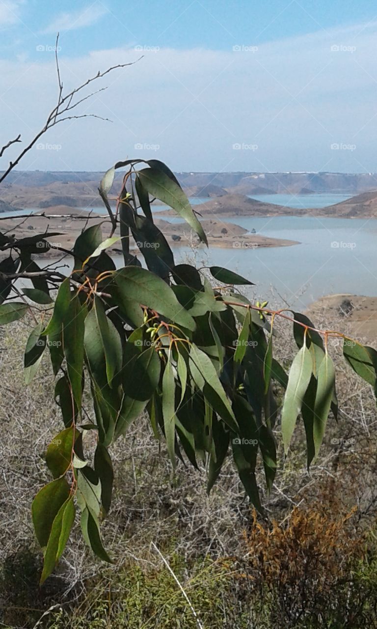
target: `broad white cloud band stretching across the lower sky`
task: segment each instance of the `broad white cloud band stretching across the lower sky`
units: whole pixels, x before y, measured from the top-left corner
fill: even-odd
[[[376,172],[377,25],[363,27],[265,43],[254,53],[146,50],[138,64],[107,75],[96,87],[109,90],[81,106],[80,113],[113,124],[87,119],[61,125],[47,141],[62,150],[36,152],[23,167],[104,170],[141,157],[134,149],[141,144],[158,145],[158,153],[147,148],[145,154],[177,170]],[[128,47],[61,55],[64,86],[139,54]],[[33,64],[0,62],[0,116],[9,136],[22,131],[30,137],[53,106],[55,69],[48,55]],[[331,150],[332,143],[356,150]],[[234,144],[256,144],[258,150],[233,150]]]

